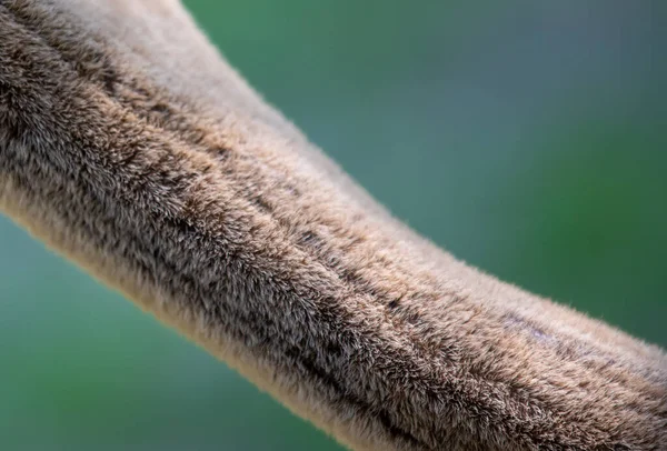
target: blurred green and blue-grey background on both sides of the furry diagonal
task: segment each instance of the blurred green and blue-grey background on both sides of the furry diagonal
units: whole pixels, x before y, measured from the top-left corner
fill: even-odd
[[[667,2],[186,4],[411,227],[667,345]],[[338,445],[1,218],[0,449]]]

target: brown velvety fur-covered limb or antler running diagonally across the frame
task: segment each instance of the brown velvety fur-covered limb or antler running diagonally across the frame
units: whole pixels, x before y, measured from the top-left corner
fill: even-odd
[[[176,0],[0,0],[0,209],[358,450],[667,450],[667,357],[391,219]]]

